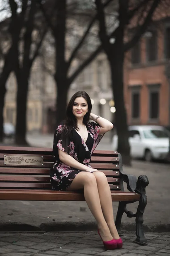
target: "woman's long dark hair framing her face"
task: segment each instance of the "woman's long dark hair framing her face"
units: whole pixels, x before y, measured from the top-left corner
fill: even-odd
[[[77,119],[73,114],[73,104],[76,98],[78,97],[83,97],[88,104],[88,112],[85,114],[84,118],[83,118],[83,123],[85,125],[87,125],[87,122],[90,119],[90,114],[91,114],[91,109],[92,109],[92,105],[91,105],[91,99],[88,95],[88,93],[86,93],[85,91],[78,91],[77,93],[75,93],[67,106],[67,110],[66,110],[66,119],[64,121],[65,124],[65,129],[63,131],[63,135],[68,135],[72,129],[76,129],[77,131],[79,131],[79,128],[77,126]]]

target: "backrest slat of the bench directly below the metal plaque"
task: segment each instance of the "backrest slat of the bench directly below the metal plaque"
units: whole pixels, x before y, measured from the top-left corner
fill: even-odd
[[[13,174],[13,175],[49,175],[50,169],[33,169],[33,168],[18,168],[18,167],[0,167],[0,174]],[[106,171],[101,170],[106,176],[119,176],[119,170]]]

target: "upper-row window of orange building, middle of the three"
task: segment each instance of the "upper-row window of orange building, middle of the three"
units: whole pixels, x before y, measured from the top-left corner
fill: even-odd
[[[157,32],[150,31],[146,37],[146,58],[147,61],[156,61],[157,59]]]

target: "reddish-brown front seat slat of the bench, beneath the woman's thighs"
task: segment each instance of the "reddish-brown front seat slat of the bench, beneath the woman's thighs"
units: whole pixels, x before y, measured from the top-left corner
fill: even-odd
[[[111,192],[112,201],[137,201],[140,195],[135,192]],[[31,201],[85,201],[83,193],[51,190],[0,190],[0,200]]]

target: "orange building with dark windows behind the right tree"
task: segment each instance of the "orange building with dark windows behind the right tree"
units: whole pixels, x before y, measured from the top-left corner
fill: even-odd
[[[170,126],[170,18],[127,53],[124,83],[128,125]]]

